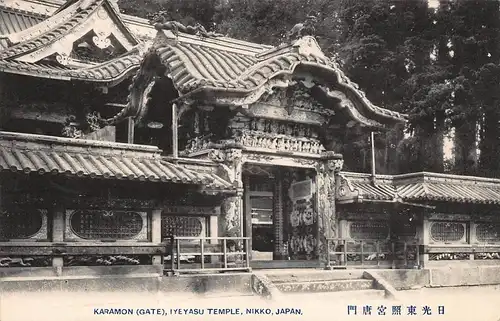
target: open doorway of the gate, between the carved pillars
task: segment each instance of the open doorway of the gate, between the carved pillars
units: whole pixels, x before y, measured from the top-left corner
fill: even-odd
[[[308,253],[304,247],[297,250],[297,245],[307,243],[304,233],[317,235],[316,225],[298,226],[294,220],[300,217],[298,224],[304,225],[304,220],[315,215],[312,192],[305,196],[298,193],[313,188],[306,170],[246,164],[243,181],[245,236],[251,239],[251,267],[318,267],[316,248]],[[296,196],[300,196],[298,200]],[[297,201],[302,203],[296,204]],[[310,212],[302,206],[306,203]]]

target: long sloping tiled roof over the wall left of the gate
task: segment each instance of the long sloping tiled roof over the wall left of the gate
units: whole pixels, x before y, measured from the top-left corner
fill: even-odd
[[[26,136],[26,135],[20,135]],[[21,137],[22,138],[22,137]],[[0,170],[39,174],[53,173],[78,177],[182,182],[232,189],[232,185],[210,173],[197,173],[179,164],[162,160],[157,153],[126,150],[117,153],[112,147],[72,146],[75,140],[58,138],[60,143],[25,144],[22,140],[0,138]],[[133,146],[130,146],[133,148]]]

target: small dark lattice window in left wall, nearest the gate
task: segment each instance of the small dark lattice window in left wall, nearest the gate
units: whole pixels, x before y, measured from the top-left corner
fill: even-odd
[[[161,218],[161,236],[202,236],[203,224],[199,217],[165,215]]]

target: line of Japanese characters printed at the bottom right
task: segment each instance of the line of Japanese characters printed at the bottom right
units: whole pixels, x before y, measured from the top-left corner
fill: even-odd
[[[444,315],[445,309],[443,305],[431,307],[428,305],[393,305],[393,306],[372,306],[372,305],[348,305],[348,315]]]

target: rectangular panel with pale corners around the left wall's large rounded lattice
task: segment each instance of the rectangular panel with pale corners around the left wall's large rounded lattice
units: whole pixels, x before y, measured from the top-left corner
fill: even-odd
[[[147,213],[123,210],[68,210],[65,239],[147,241]]]

